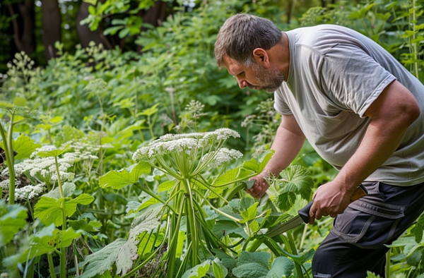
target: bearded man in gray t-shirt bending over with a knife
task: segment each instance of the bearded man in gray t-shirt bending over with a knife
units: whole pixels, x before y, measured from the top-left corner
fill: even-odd
[[[240,87],[274,92],[282,114],[260,198],[305,138],[339,170],[314,193],[310,224],[336,217],[312,260],[314,277],[384,277],[385,253],[424,210],[424,86],[358,32],[319,25],[281,32],[247,14],[220,29],[215,56]],[[351,204],[363,183],[368,195]]]

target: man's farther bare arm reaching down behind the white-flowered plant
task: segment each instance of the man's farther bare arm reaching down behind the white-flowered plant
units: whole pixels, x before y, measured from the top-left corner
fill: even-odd
[[[295,117],[293,115],[283,115],[276,133],[276,138],[271,146],[271,150],[275,150],[275,153],[268,164],[266,164],[264,171],[252,178],[256,182],[247,193],[255,198],[260,198],[264,195],[269,188],[264,178],[270,173],[278,176],[295,159],[303,143],[305,143],[305,135],[303,135]]]

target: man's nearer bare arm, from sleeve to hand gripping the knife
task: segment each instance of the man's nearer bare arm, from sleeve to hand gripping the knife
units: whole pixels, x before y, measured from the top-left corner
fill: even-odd
[[[389,84],[365,112],[370,126],[358,150],[334,181],[320,186],[314,194],[310,223],[322,216],[346,210],[355,188],[380,167],[399,147],[406,129],[420,115],[412,93],[398,81]]]

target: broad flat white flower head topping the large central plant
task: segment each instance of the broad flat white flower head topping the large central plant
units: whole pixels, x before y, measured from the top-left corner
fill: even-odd
[[[220,128],[205,133],[166,134],[134,152],[133,159],[139,161],[151,159],[155,155],[197,150],[213,144],[216,140],[227,140],[230,137],[239,138],[240,134],[230,128]]]

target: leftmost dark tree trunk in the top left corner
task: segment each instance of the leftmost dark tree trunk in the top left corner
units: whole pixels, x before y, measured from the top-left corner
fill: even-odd
[[[27,55],[35,52],[35,11],[34,1],[25,0],[18,4],[8,5],[11,17],[18,15],[12,20],[13,41],[19,52]]]

